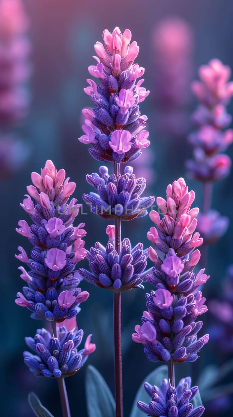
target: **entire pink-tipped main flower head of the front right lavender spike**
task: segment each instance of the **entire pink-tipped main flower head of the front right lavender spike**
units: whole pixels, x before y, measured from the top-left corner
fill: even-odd
[[[157,290],[146,294],[148,311],[143,313],[143,325],[135,327],[133,340],[144,345],[151,361],[193,362],[208,342],[208,335],[198,339],[203,323],[195,322],[207,311],[199,287],[209,276],[204,269],[197,275],[193,273],[200,259],[200,252],[193,249],[202,244],[199,234],[193,235],[198,214],[198,208],[190,209],[194,198],[195,193],[188,192],[183,178],[179,178],[168,186],[167,200],[157,198],[158,206],[163,206],[163,219],[155,211],[150,213],[156,228],[150,229],[148,239],[165,257],[160,259],[149,248],[148,256],[154,267],[146,280]]]

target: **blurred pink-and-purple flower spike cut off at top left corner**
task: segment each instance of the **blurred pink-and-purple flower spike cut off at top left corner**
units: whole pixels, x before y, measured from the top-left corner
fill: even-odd
[[[28,18],[20,0],[0,2],[0,123],[12,123],[28,112],[25,84],[31,74]]]

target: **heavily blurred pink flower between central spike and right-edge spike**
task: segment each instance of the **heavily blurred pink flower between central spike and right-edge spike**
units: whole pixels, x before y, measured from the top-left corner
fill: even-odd
[[[181,18],[165,18],[153,30],[156,101],[159,106],[182,107],[190,99],[193,70],[193,30]]]

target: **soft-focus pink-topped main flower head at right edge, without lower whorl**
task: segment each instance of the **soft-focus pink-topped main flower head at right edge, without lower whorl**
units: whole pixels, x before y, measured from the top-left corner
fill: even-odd
[[[218,155],[233,141],[233,131],[222,131],[231,122],[226,105],[233,95],[230,68],[213,59],[199,70],[200,81],[192,84],[199,106],[193,114],[199,130],[191,133],[188,141],[194,148],[194,160],[187,161],[190,175],[197,181],[214,182],[228,175],[231,161]]]

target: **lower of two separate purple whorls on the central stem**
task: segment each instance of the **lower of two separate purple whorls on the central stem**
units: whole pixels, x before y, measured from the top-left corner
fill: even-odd
[[[118,255],[113,241],[108,241],[106,248],[96,242],[95,248],[90,248],[87,253],[91,272],[80,268],[79,273],[86,281],[116,292],[143,288],[146,258],[147,250],[143,250],[142,243],[132,249],[130,240],[124,239]]]

